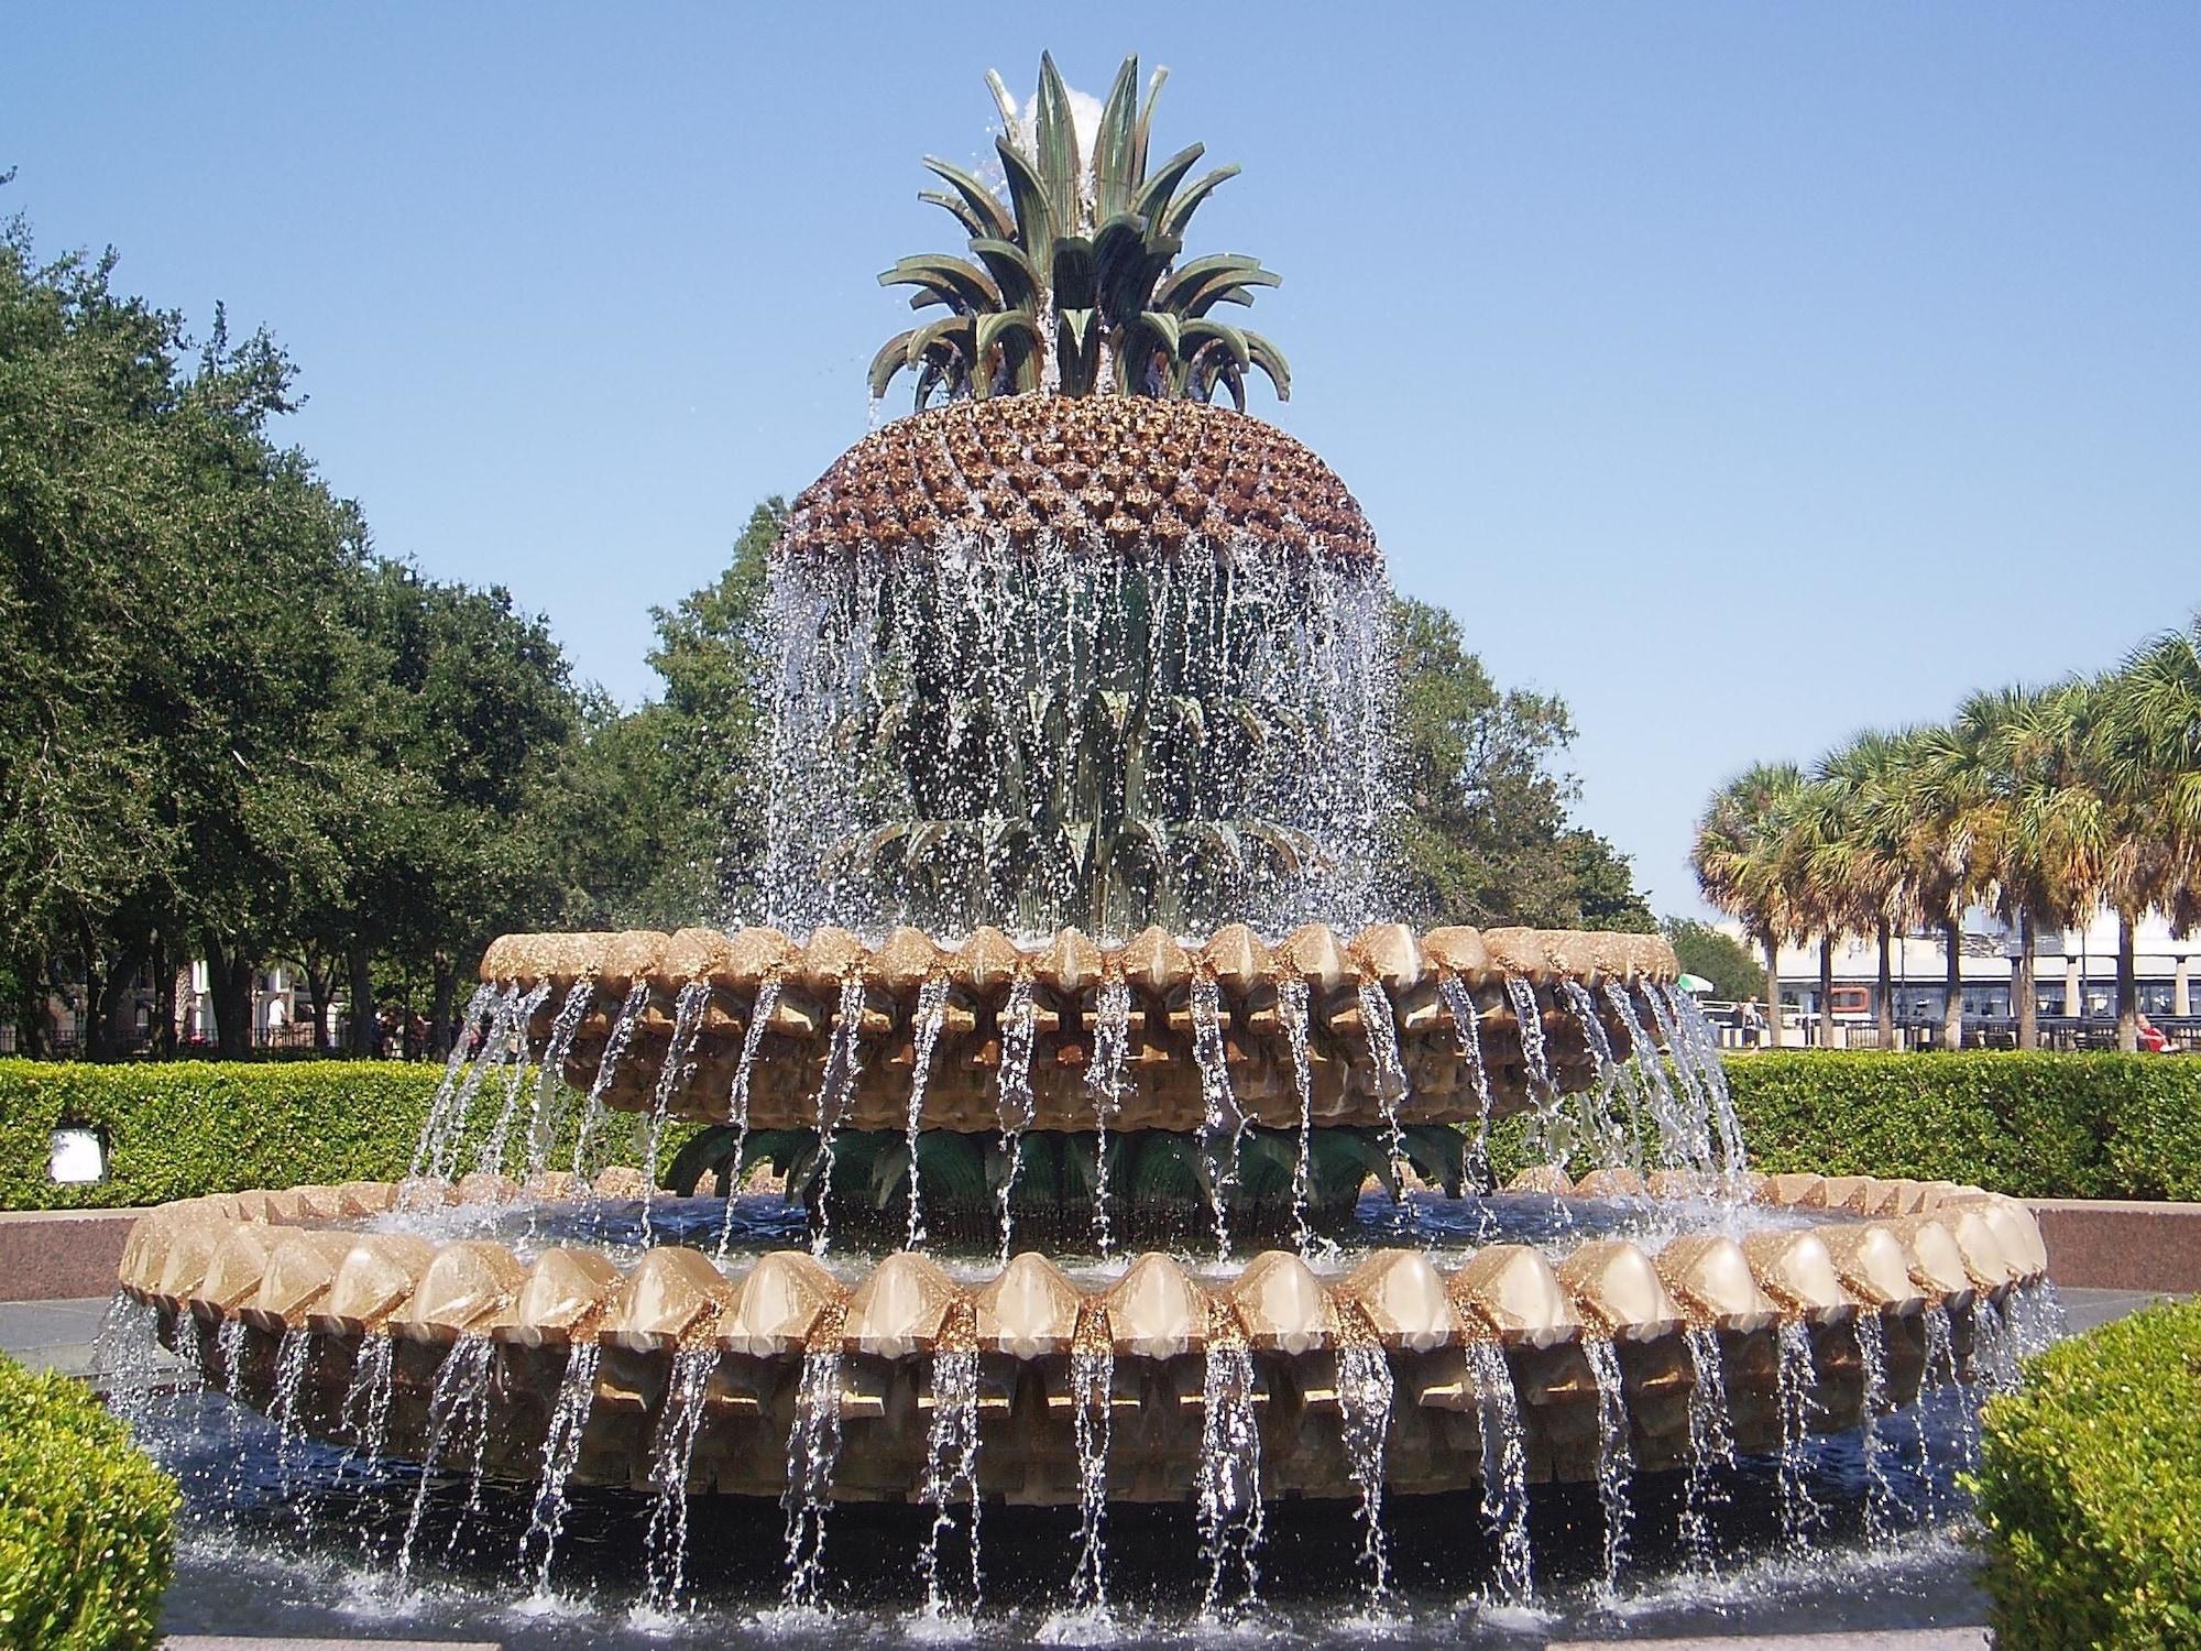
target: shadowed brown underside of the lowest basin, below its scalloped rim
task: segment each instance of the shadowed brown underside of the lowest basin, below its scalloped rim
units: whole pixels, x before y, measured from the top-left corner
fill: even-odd
[[[1952,1316],[1952,1360],[1961,1380],[1976,1378],[1972,1312],[1992,1312],[1988,1297]],[[189,1310],[185,1310],[189,1316]],[[1919,1312],[1882,1314],[1884,1407],[1917,1400],[1928,1376],[1928,1330]],[[222,1343],[216,1319],[178,1338],[174,1312],[161,1341],[196,1347],[207,1382],[240,1402],[277,1415],[313,1437],[343,1448],[376,1448],[363,1433],[368,1407],[354,1393],[365,1341],[348,1332],[299,1332],[310,1338],[291,1396],[280,1393],[282,1336],[249,1325]],[[1723,1367],[1728,1420],[1737,1448],[1778,1453],[1783,1446],[1774,1327],[1715,1332]],[[1864,1420],[1866,1376],[1855,1319],[1811,1323],[1809,1426],[1842,1433]],[[1594,1481],[1600,1459],[1600,1391],[1583,1341],[1552,1347],[1503,1345],[1521,1424],[1523,1475]],[[1618,1341],[1618,1369],[1638,1473],[1690,1462],[1690,1396],[1695,1363],[1679,1334]],[[233,1356],[233,1365],[229,1358]],[[431,1455],[482,1464],[491,1479],[535,1484],[544,1470],[550,1418],[561,1398],[570,1349],[528,1347],[497,1338],[489,1352],[486,1429],[480,1457],[471,1435],[434,1440],[434,1396],[449,1341],[396,1338],[390,1356],[390,1402],[379,1455],[420,1462]],[[803,1356],[751,1356],[704,1347],[704,1420],[687,1464],[689,1495],[781,1497],[788,1442],[803,1391]],[[676,1389],[671,1349],[638,1352],[612,1343],[599,1354],[585,1424],[568,1486],[656,1490],[656,1442]],[[1483,1411],[1466,1347],[1384,1354],[1391,1374],[1384,1486],[1395,1495],[1468,1490],[1481,1484]],[[1488,1378],[1488,1365],[1486,1365]],[[1206,1358],[1118,1358],[1107,1374],[1109,1501],[1191,1501],[1197,1490],[1206,1415]],[[1081,1495],[1076,1442],[1078,1385],[1067,1354],[1015,1358],[982,1354],[977,1369],[977,1488],[1008,1504],[1074,1506]],[[1087,1389],[1089,1391],[1089,1389]],[[350,1398],[350,1404],[348,1404]],[[927,1440],[933,1418],[933,1358],[909,1354],[841,1358],[841,1448],[832,1470],[834,1501],[920,1501],[927,1484]],[[447,1400],[449,1404],[449,1400]],[[1358,1499],[1345,1446],[1338,1358],[1329,1349],[1252,1354],[1252,1411],[1259,1424],[1261,1488],[1268,1497]]]

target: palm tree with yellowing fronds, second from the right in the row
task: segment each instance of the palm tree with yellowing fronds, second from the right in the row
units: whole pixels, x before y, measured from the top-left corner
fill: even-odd
[[[2018,1048],[2040,1046],[2034,991],[2040,929],[2084,922],[2095,905],[2100,799],[2082,762],[2087,685],[1992,689],[1957,707],[1950,751],[1961,834],[1979,892],[2018,931]]]

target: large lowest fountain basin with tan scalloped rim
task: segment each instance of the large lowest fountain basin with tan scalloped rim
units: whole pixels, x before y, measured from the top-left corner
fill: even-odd
[[[1642,1191],[1622,1176],[1605,1171],[1580,1191]],[[1664,1187],[1704,1191],[1673,1178]],[[1519,1396],[1530,1473],[1591,1477],[1598,1343],[1618,1354],[1635,1462],[1655,1468],[1686,1448],[1693,1327],[1717,1334],[1732,1418],[1752,1448],[1778,1435],[1785,1325],[1803,1325],[1814,1345],[1816,1424],[1844,1429],[1866,1391],[1862,1321],[1882,1325],[1886,1400],[1906,1402],[1928,1319],[1950,1314],[1963,1371],[1974,1305],[2045,1277],[2032,1215],[1979,1189],[1776,1176],[1752,1195],[1829,1220],[1741,1242],[1686,1235],[1655,1253],[1600,1239],[1556,1264],[1521,1244],[1373,1250],[1327,1277],[1281,1250],[1200,1275],[1142,1255],[1081,1283],[1037,1253],[962,1279],[922,1253],[889,1255],[856,1281],[806,1250],[766,1253],[737,1275],[680,1246],[645,1250],[632,1268],[583,1248],[522,1264],[484,1239],[352,1231],[398,1200],[396,1187],[352,1184],[163,1206],[132,1233],[121,1286],[161,1312],[163,1336],[211,1382],[348,1444],[359,1444],[361,1411],[354,1402],[348,1418],[346,1396],[361,1349],[387,1338],[394,1420],[383,1451],[396,1457],[425,1451],[436,1382],[451,1349],[471,1343],[482,1356],[453,1369],[486,1363],[484,1470],[519,1479],[539,1470],[570,1349],[590,1347],[599,1365],[581,1481],[643,1484],[669,1393],[691,1391],[704,1404],[696,1488],[779,1495],[803,1374],[825,1360],[839,1371],[830,1387],[843,1422],[834,1495],[907,1499],[922,1486],[935,1358],[975,1354],[982,1490],[1074,1501],[1076,1365],[1109,1367],[1109,1488],[1127,1499],[1191,1495],[1211,1356],[1228,1349],[1252,1360],[1274,1493],[1358,1495],[1338,1442],[1338,1365],[1373,1354],[1393,1389],[1384,1473],[1395,1488],[1479,1477],[1477,1365],[1488,1376],[1492,1349]],[[682,1365],[689,1380],[676,1382]],[[295,1371],[288,1393],[277,1391],[284,1367]]]

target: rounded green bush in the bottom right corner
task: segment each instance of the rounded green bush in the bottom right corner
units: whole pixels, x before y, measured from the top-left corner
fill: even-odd
[[[2201,1303],[2029,1360],[1972,1495],[2001,1644],[2201,1644]]]

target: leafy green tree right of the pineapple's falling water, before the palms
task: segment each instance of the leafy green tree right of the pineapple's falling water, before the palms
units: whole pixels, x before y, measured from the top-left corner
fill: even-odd
[[[1499,691],[1459,621],[1400,597],[1400,916],[1409,922],[1653,927],[1629,863],[1567,826],[1576,784],[1552,759],[1574,740],[1567,707]]]

